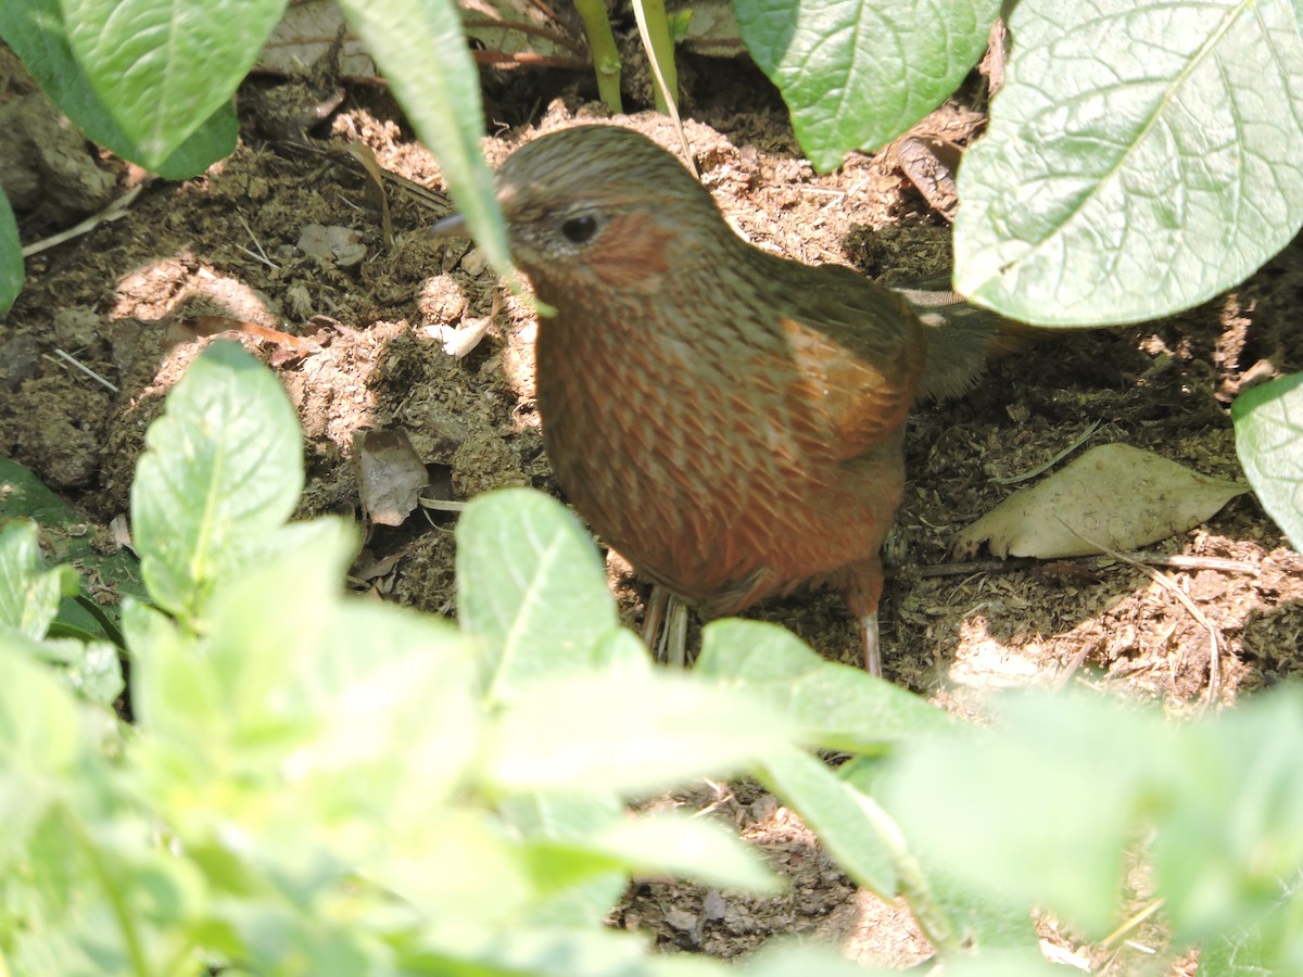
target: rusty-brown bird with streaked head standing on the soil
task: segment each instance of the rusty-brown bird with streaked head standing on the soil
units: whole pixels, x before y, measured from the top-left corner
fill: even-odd
[[[938,343],[930,302],[756,248],[674,154],[624,126],[524,143],[496,197],[512,261],[551,310],[537,405],[579,515],[705,619],[840,591],[881,676],[906,418],[920,396],[971,386],[1002,340],[981,324]]]

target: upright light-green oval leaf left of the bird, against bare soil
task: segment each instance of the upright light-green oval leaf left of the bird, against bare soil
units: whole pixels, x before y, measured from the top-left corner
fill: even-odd
[[[145,435],[132,531],[150,595],[198,620],[250,564],[304,487],[298,418],[280,382],[233,343],[201,353]]]

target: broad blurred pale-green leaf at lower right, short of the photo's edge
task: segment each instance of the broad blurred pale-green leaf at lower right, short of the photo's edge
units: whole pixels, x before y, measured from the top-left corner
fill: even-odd
[[[1038,904],[1104,935],[1143,815],[1184,759],[1157,716],[1011,698],[997,729],[903,752],[878,796],[925,865],[1002,905]]]

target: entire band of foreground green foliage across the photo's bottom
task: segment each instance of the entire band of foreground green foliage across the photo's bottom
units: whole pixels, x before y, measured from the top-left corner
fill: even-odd
[[[618,627],[579,522],[524,490],[459,526],[457,630],[344,597],[352,526],[284,525],[291,417],[271,374],[218,343],[150,431],[133,515],[158,521],[137,537],[154,604],[122,614],[132,727],[106,706],[113,649],[96,671],[96,642],[51,641],[73,574],[44,569],[33,524],[0,533],[16,972],[719,973],[599,927],[635,871],[775,890],[718,826],[625,813],[706,772],[758,776],[856,882],[907,900],[947,972],[1041,973],[1031,908],[1100,935],[1136,857],[1174,946],[1303,965],[1298,690],[1184,726],[1012,700],[973,729],[748,621],[711,624],[698,668],[666,673]],[[856,758],[834,771],[800,746]],[[794,960],[825,967],[780,951],[756,972]]]

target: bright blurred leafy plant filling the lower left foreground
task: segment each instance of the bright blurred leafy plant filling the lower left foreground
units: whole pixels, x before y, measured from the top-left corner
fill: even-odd
[[[284,524],[304,478],[292,410],[238,347],[192,363],[146,440],[132,499],[154,603],[122,611],[134,726],[51,671],[76,576],[42,567],[34,524],[0,534],[7,965],[714,972],[598,925],[633,871],[775,878],[718,826],[629,818],[623,797],[753,767],[794,748],[795,722],[653,672],[586,533],[533,494],[466,512],[461,632],[345,598],[356,530]],[[547,608],[573,612],[568,637]]]

